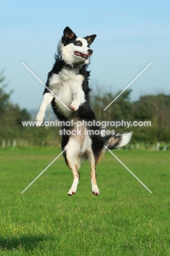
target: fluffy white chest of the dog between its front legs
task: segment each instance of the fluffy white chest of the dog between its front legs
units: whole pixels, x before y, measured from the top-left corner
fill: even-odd
[[[71,102],[75,99],[78,91],[83,92],[82,83],[83,83],[83,75],[74,74],[71,77],[63,77],[60,74],[53,74],[50,78],[50,90],[56,95],[60,101],[62,101],[66,107],[70,109]],[[83,92],[84,95],[84,92]],[[55,98],[56,104],[60,109],[60,112],[65,115],[65,117],[69,117],[72,113]]]

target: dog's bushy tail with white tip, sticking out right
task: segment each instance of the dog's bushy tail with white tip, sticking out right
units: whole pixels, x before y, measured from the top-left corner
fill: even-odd
[[[125,132],[123,134],[117,133],[116,135],[107,135],[103,137],[104,146],[106,146],[107,149],[116,149],[119,147],[123,147],[127,143],[129,143],[131,137],[132,132]]]

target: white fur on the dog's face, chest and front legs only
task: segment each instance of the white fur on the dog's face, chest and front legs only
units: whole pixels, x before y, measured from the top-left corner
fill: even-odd
[[[82,46],[77,46],[73,43],[64,46],[60,40],[57,46],[58,57],[62,56],[62,59],[70,65],[81,61],[88,64],[89,59],[85,60],[74,54],[75,51],[79,51],[82,54],[88,54],[89,47],[87,40],[80,37],[77,37],[76,40],[80,40],[82,42]],[[60,112],[64,114],[65,117],[69,117],[72,111],[76,111],[86,101],[82,90],[84,77],[83,75],[78,74],[79,69],[80,68],[71,69],[69,67],[63,67],[58,74],[53,74],[50,78],[50,90],[65,104],[66,107],[70,108],[69,111],[57,100],[57,98],[55,98]],[[46,93],[43,96],[43,101],[36,118],[39,124],[43,123],[46,108],[48,104],[51,103],[52,99],[53,96],[50,93]],[[37,123],[38,126],[39,124]]]

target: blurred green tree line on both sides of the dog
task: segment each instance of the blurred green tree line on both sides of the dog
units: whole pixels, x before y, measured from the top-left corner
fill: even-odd
[[[31,114],[19,104],[13,104],[10,95],[6,91],[5,77],[0,74],[0,143],[3,139],[19,139],[27,141],[30,145],[59,146],[60,127],[23,127],[22,121],[32,120]],[[105,92],[98,88],[90,95],[92,109],[99,121],[133,121],[144,123],[150,121],[151,126],[110,126],[107,129],[115,130],[116,133],[133,131],[132,143],[144,142],[170,142],[170,95],[157,94],[141,96],[138,101],[130,101],[131,90],[126,90],[105,111],[104,109],[116,98],[120,92]],[[113,122],[112,122],[113,123]],[[120,124],[119,123],[119,124]],[[125,124],[125,123],[124,123]],[[136,123],[135,123],[136,124]],[[1,144],[0,144],[1,145]]]

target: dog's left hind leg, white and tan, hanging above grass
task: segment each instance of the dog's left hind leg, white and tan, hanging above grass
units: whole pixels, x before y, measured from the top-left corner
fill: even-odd
[[[68,195],[71,196],[76,193],[78,181],[80,179],[80,174],[78,173],[78,169],[80,168],[80,158],[78,156],[78,152],[80,152],[80,145],[76,143],[73,138],[70,138],[67,146],[69,146],[69,148],[66,149],[65,160],[73,175],[73,182],[70,190],[68,191]]]

